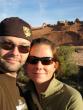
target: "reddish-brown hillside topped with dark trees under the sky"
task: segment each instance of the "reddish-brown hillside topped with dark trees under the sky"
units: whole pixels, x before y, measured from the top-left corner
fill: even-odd
[[[58,21],[57,24],[46,24],[32,28],[33,38],[43,37],[54,41],[57,45],[83,45],[83,21]]]

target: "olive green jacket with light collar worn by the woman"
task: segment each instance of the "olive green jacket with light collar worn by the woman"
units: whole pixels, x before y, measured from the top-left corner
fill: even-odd
[[[33,110],[83,110],[83,100],[80,93],[55,78],[52,79],[47,90],[39,96],[31,81],[27,86],[36,105],[36,109]]]

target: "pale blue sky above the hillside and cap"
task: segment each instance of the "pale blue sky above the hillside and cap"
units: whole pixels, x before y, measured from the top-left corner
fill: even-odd
[[[33,27],[57,21],[83,21],[83,0],[0,0],[0,21],[17,16]]]

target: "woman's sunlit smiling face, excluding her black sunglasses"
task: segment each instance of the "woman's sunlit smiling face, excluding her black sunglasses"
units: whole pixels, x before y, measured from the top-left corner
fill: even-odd
[[[51,47],[46,44],[34,45],[30,50],[30,56],[35,56],[38,58],[51,57],[53,58],[53,53]],[[34,57],[32,57],[33,59]],[[26,64],[27,75],[34,83],[41,84],[50,80],[56,70],[57,63],[52,61],[48,65],[42,64],[38,61],[35,64]]]

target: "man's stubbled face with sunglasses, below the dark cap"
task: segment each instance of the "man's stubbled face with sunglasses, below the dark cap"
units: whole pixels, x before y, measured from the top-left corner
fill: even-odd
[[[13,36],[0,37],[0,66],[7,72],[16,72],[25,63],[30,41]]]

